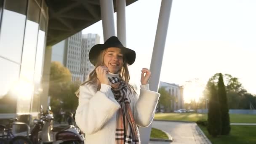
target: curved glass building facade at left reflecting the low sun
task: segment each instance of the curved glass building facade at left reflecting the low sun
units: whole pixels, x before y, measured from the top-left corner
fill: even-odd
[[[45,0],[0,0],[2,118],[39,112],[47,27]]]

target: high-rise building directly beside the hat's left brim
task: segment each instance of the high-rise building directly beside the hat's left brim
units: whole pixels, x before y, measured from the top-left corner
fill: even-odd
[[[99,44],[100,37],[97,34],[83,34],[82,37],[82,53],[81,53],[81,72],[85,81],[89,73],[94,69],[93,64],[89,61],[89,51],[93,45]]]

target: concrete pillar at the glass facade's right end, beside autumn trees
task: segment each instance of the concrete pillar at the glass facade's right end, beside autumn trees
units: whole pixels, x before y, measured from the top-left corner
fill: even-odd
[[[49,82],[50,82],[50,70],[51,70],[51,51],[52,47],[47,46],[45,48],[44,63],[43,63],[43,78],[42,87],[43,92],[40,97],[40,104],[43,105],[43,109],[47,110],[48,96],[49,96]]]

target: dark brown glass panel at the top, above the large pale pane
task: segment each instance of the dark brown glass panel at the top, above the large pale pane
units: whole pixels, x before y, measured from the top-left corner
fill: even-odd
[[[27,0],[5,0],[5,9],[26,15]]]

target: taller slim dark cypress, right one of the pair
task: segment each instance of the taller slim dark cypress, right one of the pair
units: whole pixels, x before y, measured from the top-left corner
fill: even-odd
[[[227,103],[227,93],[226,88],[223,81],[223,76],[219,74],[219,81],[218,81],[218,96],[219,96],[219,104],[221,110],[221,122],[222,122],[222,135],[228,135],[231,128],[230,128],[230,120],[229,120],[229,108]]]

